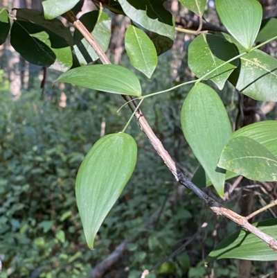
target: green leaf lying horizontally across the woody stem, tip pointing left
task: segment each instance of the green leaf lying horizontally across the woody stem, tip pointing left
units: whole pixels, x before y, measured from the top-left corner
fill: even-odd
[[[66,82],[98,91],[141,96],[141,84],[136,75],[116,64],[92,64],[70,69],[55,82]]]

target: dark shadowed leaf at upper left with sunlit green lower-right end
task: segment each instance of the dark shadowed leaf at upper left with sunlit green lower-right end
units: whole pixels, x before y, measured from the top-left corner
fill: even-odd
[[[49,24],[55,25],[56,21],[55,19]],[[45,26],[15,20],[10,31],[10,44],[25,60],[33,64],[57,71],[66,71],[72,65],[68,42]]]

